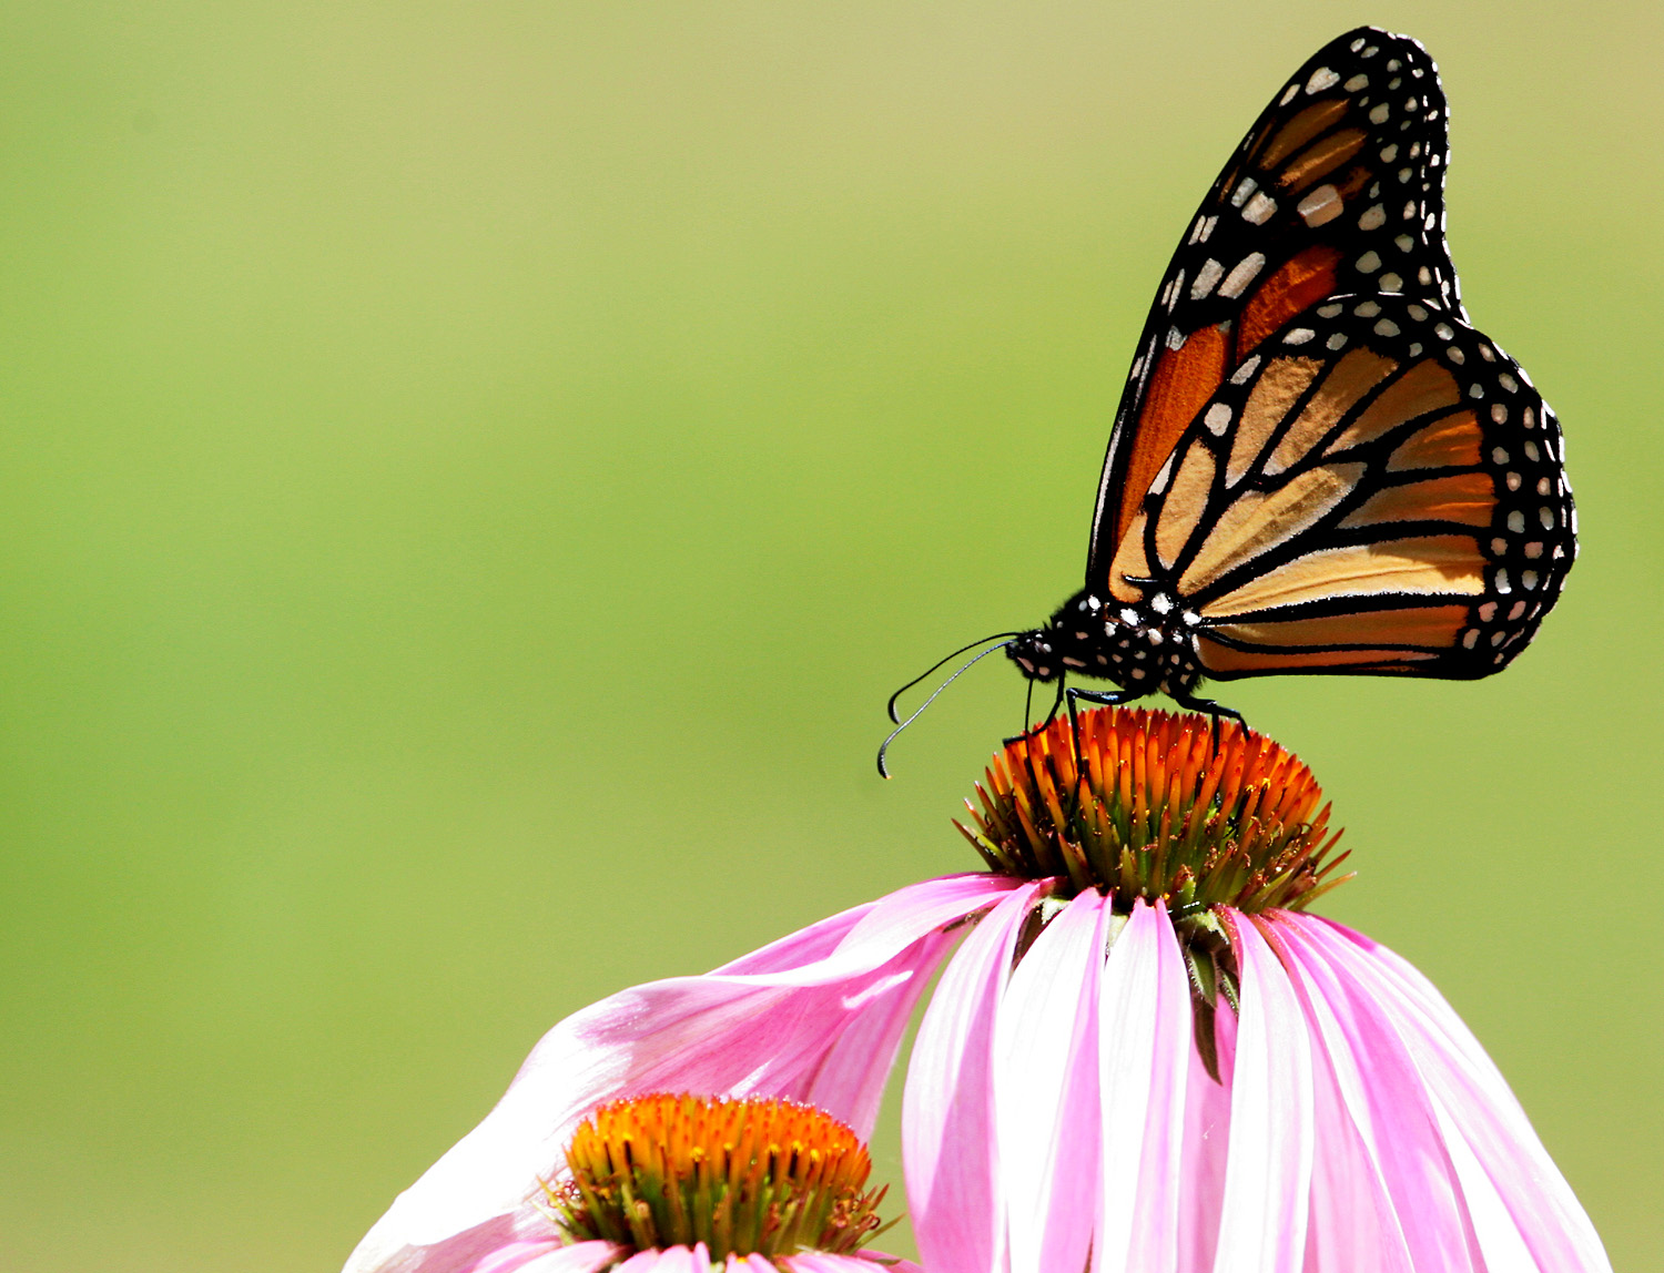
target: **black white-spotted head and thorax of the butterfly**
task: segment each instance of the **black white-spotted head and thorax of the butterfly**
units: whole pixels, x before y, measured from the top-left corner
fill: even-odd
[[[1005,647],[1030,681],[1075,674],[1122,689],[1190,697],[1201,679],[1193,627],[1196,616],[1156,594],[1137,606],[1082,591],[1065,601],[1045,627]]]

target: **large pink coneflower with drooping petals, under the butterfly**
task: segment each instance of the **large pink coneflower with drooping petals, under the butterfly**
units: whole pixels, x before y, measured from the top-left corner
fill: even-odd
[[[869,1135],[967,920],[904,1102],[929,1273],[1609,1270],[1439,993],[1301,914],[1340,857],[1300,760],[1117,709],[1082,716],[1080,757],[1077,775],[1065,722],[995,757],[962,827],[987,874],[557,1025],[351,1273],[464,1273],[549,1241],[559,1147],[621,1095],[787,1097]]]

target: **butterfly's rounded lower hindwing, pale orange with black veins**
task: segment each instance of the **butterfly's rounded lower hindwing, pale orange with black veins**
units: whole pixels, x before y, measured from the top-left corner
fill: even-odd
[[[1529,642],[1574,536],[1518,363],[1433,300],[1331,296],[1203,404],[1095,586],[1165,596],[1218,679],[1478,677]]]

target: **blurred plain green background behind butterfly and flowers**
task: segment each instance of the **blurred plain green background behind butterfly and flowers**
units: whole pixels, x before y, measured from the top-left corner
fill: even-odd
[[[1584,557],[1506,676],[1230,702],[1657,1268],[1664,10],[912,0],[0,13],[0,1265],[336,1268],[556,1018],[972,867],[1020,679],[890,784],[884,699],[1078,586],[1168,251],[1356,22]]]

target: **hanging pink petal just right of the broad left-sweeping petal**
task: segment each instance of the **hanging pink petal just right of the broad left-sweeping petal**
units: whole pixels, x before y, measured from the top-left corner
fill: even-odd
[[[992,1047],[1017,935],[1040,887],[1013,889],[965,939],[907,1067],[907,1200],[932,1273],[988,1273],[1003,1243]]]

